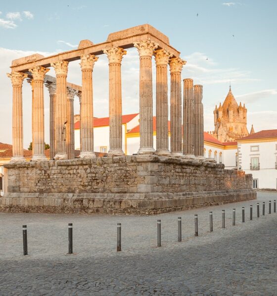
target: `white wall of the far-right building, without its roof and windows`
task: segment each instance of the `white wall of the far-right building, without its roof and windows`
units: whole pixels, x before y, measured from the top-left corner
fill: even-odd
[[[277,141],[275,142],[238,142],[240,165],[253,179],[258,179],[258,188],[277,189]],[[251,151],[251,146],[259,146],[259,151]],[[251,157],[259,157],[260,170],[250,170]]]

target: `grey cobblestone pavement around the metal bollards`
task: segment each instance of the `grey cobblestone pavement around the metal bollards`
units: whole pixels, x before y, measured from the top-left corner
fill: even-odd
[[[0,213],[0,295],[275,296],[274,199],[277,193],[261,192],[249,202],[156,216]],[[253,221],[249,221],[250,204]],[[245,223],[241,222],[243,206]],[[235,226],[231,225],[233,208]],[[198,214],[198,237],[194,237],[194,214]],[[182,217],[182,242],[177,241],[178,217]],[[157,219],[162,221],[161,248],[156,248]],[[68,222],[73,222],[73,255],[66,254]],[[122,252],[116,252],[117,222],[122,223]],[[22,255],[23,224],[28,228],[28,256]]]

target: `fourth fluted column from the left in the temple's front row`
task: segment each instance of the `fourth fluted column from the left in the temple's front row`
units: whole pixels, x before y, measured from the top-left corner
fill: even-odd
[[[81,158],[93,158],[93,96],[92,70],[98,60],[93,54],[81,56],[82,69],[82,105],[81,105]]]

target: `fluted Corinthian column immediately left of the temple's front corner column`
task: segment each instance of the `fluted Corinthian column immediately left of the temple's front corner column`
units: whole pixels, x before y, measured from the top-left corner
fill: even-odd
[[[122,95],[121,95],[121,61],[126,50],[111,47],[103,52],[109,59],[109,126],[111,155],[123,155],[122,150]]]

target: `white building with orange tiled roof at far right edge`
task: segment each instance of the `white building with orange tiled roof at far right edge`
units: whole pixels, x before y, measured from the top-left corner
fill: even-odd
[[[253,187],[277,189],[277,130],[263,130],[238,140],[238,167],[252,174]]]

